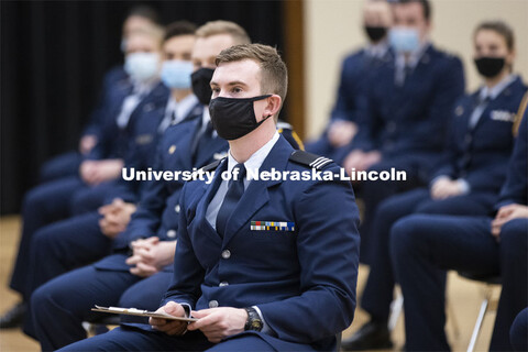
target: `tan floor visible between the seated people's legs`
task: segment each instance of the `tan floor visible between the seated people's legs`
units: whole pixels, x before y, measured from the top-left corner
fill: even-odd
[[[11,307],[16,300],[18,295],[8,288],[11,273],[11,266],[16,253],[20,231],[20,217],[8,216],[0,218],[0,314]],[[369,274],[366,267],[360,268],[359,290]],[[449,300],[450,309],[448,311],[448,336],[453,351],[465,351],[470,341],[471,332],[479,314],[482,302],[483,287],[480,284],[460,278],[455,273],[450,273],[449,277]],[[495,289],[495,295],[499,292]],[[453,319],[454,317],[454,319]],[[343,339],[351,336],[361,324],[367,320],[367,316],[361,309],[356,311],[354,322],[343,332]],[[453,320],[455,323],[453,323]],[[490,314],[484,321],[479,343],[475,351],[487,350],[491,331],[493,328],[494,314]],[[454,333],[454,326],[459,326],[459,336]],[[404,344],[404,323],[403,316],[399,317],[393,333],[395,346],[393,351],[399,351]],[[38,351],[38,344],[24,336],[19,329],[0,330],[0,351]]]

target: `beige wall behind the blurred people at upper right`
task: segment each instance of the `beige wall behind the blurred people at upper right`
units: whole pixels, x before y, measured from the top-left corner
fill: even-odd
[[[324,128],[336,98],[341,61],[365,40],[361,11],[364,0],[305,0],[306,136]],[[509,23],[517,37],[515,72],[528,79],[527,0],[432,0],[432,40],[464,62],[466,89],[480,81],[472,62],[471,36],[483,20]],[[524,38],[521,38],[521,33]]]

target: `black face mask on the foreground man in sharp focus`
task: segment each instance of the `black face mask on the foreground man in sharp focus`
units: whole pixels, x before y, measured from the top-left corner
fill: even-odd
[[[232,141],[246,135],[260,127],[270,117],[256,122],[253,101],[270,98],[272,95],[253,98],[223,98],[218,97],[209,103],[212,125],[218,135]]]

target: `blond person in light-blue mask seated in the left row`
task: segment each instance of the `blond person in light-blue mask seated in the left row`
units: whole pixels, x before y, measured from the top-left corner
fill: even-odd
[[[142,56],[145,54],[145,51],[152,51],[151,54],[155,58],[157,56],[156,52],[158,51],[160,46],[158,42],[161,41],[160,34],[161,33],[153,31],[135,33],[128,41],[128,50],[130,52],[128,57],[131,59],[133,55]],[[136,65],[134,69],[143,69],[143,74],[148,73],[150,70],[155,75],[157,72],[157,63],[155,61],[151,62],[154,65],[152,65],[152,63],[146,63],[146,70],[142,68],[142,63],[140,63],[141,65]],[[138,73],[133,74],[136,75]],[[70,211],[69,202],[73,198],[73,195],[82,187],[91,188],[94,190],[100,188],[100,191],[98,191],[100,197],[111,196],[111,193],[113,193],[114,189],[112,187],[108,187],[108,184],[107,187],[103,187],[103,185],[92,187],[88,186],[88,184],[97,183],[99,180],[102,182],[105,178],[108,178],[109,167],[113,168],[113,170],[111,170],[111,178],[120,176],[123,162],[121,158],[118,160],[113,157],[123,157],[130,150],[130,145],[135,142],[135,139],[141,138],[141,134],[143,134],[141,130],[143,130],[145,127],[153,129],[154,131],[157,129],[157,123],[162,117],[160,117],[157,121],[151,121],[148,117],[142,118],[142,116],[143,112],[154,111],[158,106],[164,105],[166,102],[168,91],[166,87],[158,82],[157,78],[155,80],[153,80],[153,77],[146,76],[144,78],[144,82],[138,80],[135,86],[138,89],[140,89],[139,87],[144,87],[142,89],[146,90],[143,94],[146,94],[145,97],[132,94],[132,86],[127,88],[125,91],[121,88],[112,91],[112,98],[110,100],[113,102],[107,105],[106,113],[112,114],[114,119],[106,119],[106,123],[109,127],[102,129],[106,131],[106,133],[101,135],[99,143],[90,151],[91,157],[99,158],[99,161],[85,161],[82,163],[94,164],[91,169],[94,174],[84,175],[86,176],[85,179],[87,179],[87,183],[84,183],[78,176],[61,178],[52,183],[40,185],[25,196],[22,209],[22,238],[19,244],[19,253],[16,255],[16,262],[10,283],[10,287],[12,289],[22,294],[23,302],[28,301],[30,298],[25,295],[29,270],[28,265],[30,260],[31,239],[36,230],[52,222],[67,218]],[[127,97],[125,95],[129,96]],[[134,97],[135,102],[131,101],[132,97]],[[127,101],[129,101],[129,103],[127,103]],[[136,108],[132,107],[130,102],[134,103]],[[121,106],[123,106],[122,109]],[[130,123],[129,121],[121,121],[120,123],[122,123],[123,127],[121,129],[117,125],[116,117],[119,117],[121,120],[123,120],[123,118],[125,120],[130,119]],[[111,158],[109,160],[107,157]],[[99,165],[95,165],[95,163],[98,163]],[[88,178],[90,178],[90,180],[88,180]],[[116,191],[118,190],[116,189]],[[20,318],[23,311],[24,305],[16,305],[13,311],[10,310],[6,314],[2,319],[3,324],[1,327],[12,327],[13,323],[11,323],[11,321],[14,321],[14,323],[20,323]]]

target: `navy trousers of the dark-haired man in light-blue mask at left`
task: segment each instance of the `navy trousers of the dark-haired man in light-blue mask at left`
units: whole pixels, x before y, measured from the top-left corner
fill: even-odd
[[[28,297],[50,279],[110,254],[111,240],[100,231],[99,219],[97,212],[87,213],[54,222],[34,234],[26,273]],[[34,336],[31,316],[24,321],[24,331]]]

